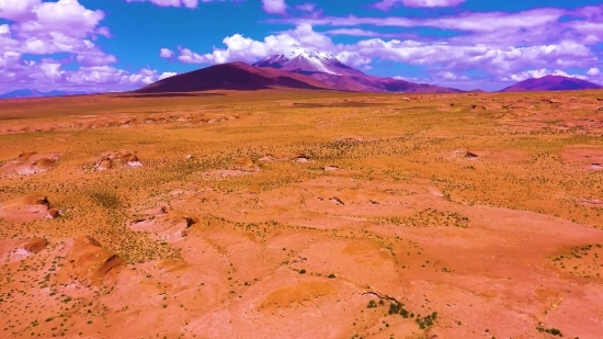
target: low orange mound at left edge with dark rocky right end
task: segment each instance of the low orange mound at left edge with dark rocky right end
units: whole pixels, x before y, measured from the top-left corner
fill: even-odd
[[[0,217],[12,222],[31,222],[46,216],[49,208],[46,195],[30,194],[0,204]]]

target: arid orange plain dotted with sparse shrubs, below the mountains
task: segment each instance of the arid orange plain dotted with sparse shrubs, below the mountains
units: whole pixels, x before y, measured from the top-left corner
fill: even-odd
[[[0,338],[601,338],[603,92],[0,102]]]

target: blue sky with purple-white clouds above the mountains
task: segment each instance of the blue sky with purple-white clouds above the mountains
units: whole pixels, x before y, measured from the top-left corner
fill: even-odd
[[[603,84],[603,1],[0,0],[0,92],[133,90],[298,47],[464,90]]]

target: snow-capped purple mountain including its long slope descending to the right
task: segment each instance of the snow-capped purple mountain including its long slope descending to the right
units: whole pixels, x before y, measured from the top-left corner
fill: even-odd
[[[414,83],[394,78],[380,78],[342,64],[330,53],[312,52],[298,48],[289,55],[273,55],[253,64],[255,67],[273,68],[307,75],[326,86],[354,92],[408,92],[408,93],[442,93],[463,92],[433,84]]]

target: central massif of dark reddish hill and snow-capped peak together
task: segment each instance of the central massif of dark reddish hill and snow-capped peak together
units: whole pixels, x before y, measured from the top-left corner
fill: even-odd
[[[253,65],[229,63],[173,76],[135,92],[193,92],[297,88],[352,92],[457,93],[457,89],[367,76],[328,53],[297,49]]]

